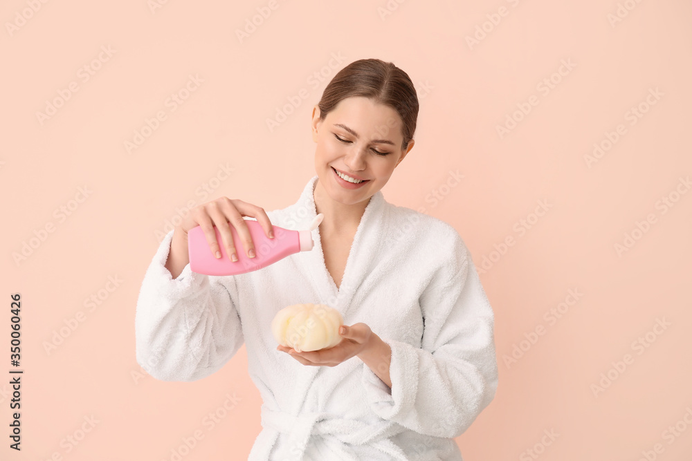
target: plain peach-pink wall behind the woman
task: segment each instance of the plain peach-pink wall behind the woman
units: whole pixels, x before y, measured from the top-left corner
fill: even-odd
[[[457,439],[464,460],[690,459],[689,1],[161,3],[0,6],[0,350],[9,364],[19,292],[25,370],[21,453],[0,384],[0,458],[171,460],[195,431],[183,460],[247,458],[261,400],[245,348],[198,382],[146,375],[140,283],[186,206],[294,203],[314,174],[313,105],[340,68],[378,57],[410,75],[421,104],[385,199],[458,230],[495,311],[500,384]],[[271,14],[239,39],[257,8]],[[190,75],[203,81],[185,94]],[[269,129],[277,111],[286,120]],[[594,143],[607,149],[589,162]]]

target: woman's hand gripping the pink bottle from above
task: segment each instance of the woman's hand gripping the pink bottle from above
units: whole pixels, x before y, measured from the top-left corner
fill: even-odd
[[[246,254],[250,258],[254,258],[255,244],[243,216],[256,218],[257,222],[262,225],[264,234],[268,238],[273,238],[271,221],[262,207],[246,203],[237,198],[228,197],[219,197],[192,208],[188,216],[183,219],[183,222],[176,227],[176,232],[182,232],[185,236],[185,241],[187,241],[188,231],[192,227],[199,225],[207,238],[212,254],[220,258],[219,242],[217,242],[216,232],[214,232],[214,227],[217,227],[228,257],[231,258],[231,261],[237,261],[236,251],[238,243],[233,241],[233,234],[230,232],[230,226],[233,225],[240,236],[240,241]]]

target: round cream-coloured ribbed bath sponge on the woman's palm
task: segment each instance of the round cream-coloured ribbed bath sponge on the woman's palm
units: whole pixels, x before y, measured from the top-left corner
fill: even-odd
[[[271,332],[277,343],[297,352],[331,348],[341,342],[341,312],[325,304],[293,304],[276,313]]]

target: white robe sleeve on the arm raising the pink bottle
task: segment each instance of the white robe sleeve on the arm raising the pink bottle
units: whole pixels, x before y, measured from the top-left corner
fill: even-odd
[[[173,279],[165,267],[172,238],[163,238],[140,288],[136,360],[156,379],[190,382],[224,366],[244,337],[235,279],[197,274],[190,264]]]

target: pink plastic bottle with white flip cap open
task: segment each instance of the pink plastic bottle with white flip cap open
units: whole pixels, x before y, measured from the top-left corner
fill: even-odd
[[[322,222],[324,216],[320,213],[313,220],[310,229],[307,230],[291,230],[283,227],[272,225],[274,229],[274,238],[268,238],[264,234],[262,225],[256,220],[246,219],[250,235],[255,245],[255,257],[250,258],[243,246],[238,232],[233,225],[230,225],[230,232],[233,234],[233,245],[235,245],[235,254],[238,256],[238,261],[231,261],[224,241],[221,238],[221,233],[217,227],[214,227],[219,243],[219,251],[221,258],[217,258],[212,254],[207,238],[200,226],[193,227],[188,231],[188,255],[190,256],[190,270],[198,274],[206,275],[237,275],[252,272],[253,270],[262,269],[280,259],[298,252],[307,252],[312,250],[314,242],[312,240],[312,231],[316,229]]]

